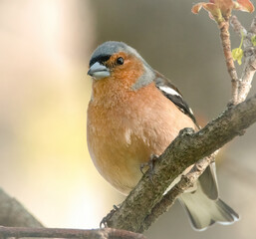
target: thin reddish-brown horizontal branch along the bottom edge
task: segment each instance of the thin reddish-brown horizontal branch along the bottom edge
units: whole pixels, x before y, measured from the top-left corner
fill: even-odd
[[[83,238],[83,239],[145,239],[141,234],[113,228],[80,230],[61,228],[2,227],[0,237],[44,237],[44,238]]]

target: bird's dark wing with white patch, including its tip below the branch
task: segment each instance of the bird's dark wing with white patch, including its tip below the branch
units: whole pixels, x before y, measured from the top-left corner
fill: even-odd
[[[170,80],[155,71],[154,84],[158,90],[169,99],[186,116],[193,120],[198,129],[200,126],[196,122],[192,110],[183,100],[181,93],[174,87]],[[218,198],[218,185],[216,178],[215,163],[211,163],[199,177],[199,183],[204,193],[211,199]]]

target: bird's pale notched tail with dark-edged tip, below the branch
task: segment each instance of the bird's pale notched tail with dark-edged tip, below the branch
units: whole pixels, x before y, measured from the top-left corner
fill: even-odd
[[[231,224],[239,219],[239,215],[221,199],[210,199],[199,186],[194,192],[183,193],[179,201],[189,215],[195,230],[205,230],[215,222]]]

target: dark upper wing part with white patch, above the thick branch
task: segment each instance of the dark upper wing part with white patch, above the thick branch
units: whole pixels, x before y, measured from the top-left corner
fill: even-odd
[[[183,100],[181,93],[178,91],[176,87],[174,87],[170,80],[165,78],[160,73],[154,71],[155,79],[154,83],[158,90],[185,115],[187,115],[193,122],[198,126],[196,119],[194,118],[192,110],[188,107],[186,102]]]

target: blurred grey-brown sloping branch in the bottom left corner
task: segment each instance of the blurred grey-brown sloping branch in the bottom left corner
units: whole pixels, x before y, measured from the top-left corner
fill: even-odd
[[[0,188],[0,225],[43,227],[24,206]]]

